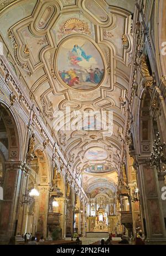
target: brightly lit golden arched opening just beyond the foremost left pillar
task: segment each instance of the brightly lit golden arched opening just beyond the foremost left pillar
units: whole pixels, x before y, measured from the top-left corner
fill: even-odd
[[[37,238],[47,236],[48,183],[49,165],[44,152],[35,150],[34,159],[30,161],[29,176],[25,181],[23,195],[37,189],[39,196],[29,196],[30,201],[21,201],[19,208],[17,235],[29,233]]]

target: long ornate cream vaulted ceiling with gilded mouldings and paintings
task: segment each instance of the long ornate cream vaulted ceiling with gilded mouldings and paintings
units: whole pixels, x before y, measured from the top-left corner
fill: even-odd
[[[0,1],[8,61],[87,193],[117,184],[133,7],[122,0]],[[85,171],[97,165],[105,166],[102,178]]]

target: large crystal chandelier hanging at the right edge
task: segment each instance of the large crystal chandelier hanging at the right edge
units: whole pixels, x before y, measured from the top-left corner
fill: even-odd
[[[156,140],[153,143],[153,152],[151,153],[150,164],[151,166],[155,166],[158,172],[162,171],[161,165],[162,163],[166,163],[166,159],[164,157],[164,147],[165,143],[161,143],[159,132],[157,132]]]

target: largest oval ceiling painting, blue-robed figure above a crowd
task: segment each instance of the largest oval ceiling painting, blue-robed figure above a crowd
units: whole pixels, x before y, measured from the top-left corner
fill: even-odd
[[[100,52],[91,41],[80,36],[61,44],[56,68],[60,80],[76,90],[94,89],[104,74]]]

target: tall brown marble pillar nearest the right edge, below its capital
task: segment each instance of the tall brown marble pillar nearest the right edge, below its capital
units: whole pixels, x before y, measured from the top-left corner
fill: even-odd
[[[146,242],[165,243],[166,233],[157,171],[143,161],[138,169],[138,184]]]

